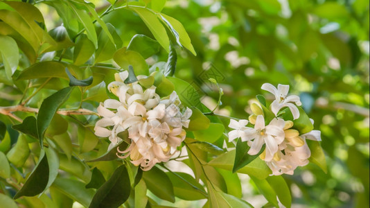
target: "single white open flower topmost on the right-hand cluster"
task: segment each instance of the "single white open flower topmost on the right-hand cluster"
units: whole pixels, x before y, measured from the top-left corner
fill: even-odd
[[[299,118],[299,110],[296,105],[302,105],[301,101],[299,100],[299,96],[291,95],[288,96],[289,85],[278,85],[278,88],[274,87],[269,83],[265,83],[262,85],[261,89],[264,89],[268,92],[271,92],[275,96],[275,101],[271,103],[271,110],[272,112],[277,115],[279,110],[283,107],[289,107],[290,111],[292,112],[293,118]],[[294,105],[295,103],[296,105]]]

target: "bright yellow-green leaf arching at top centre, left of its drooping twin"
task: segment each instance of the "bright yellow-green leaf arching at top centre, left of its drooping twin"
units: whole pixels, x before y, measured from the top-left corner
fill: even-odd
[[[152,32],[155,39],[161,44],[164,49],[169,52],[170,48],[170,40],[168,39],[168,35],[166,33],[166,28],[161,24],[157,15],[150,12],[147,8],[130,8],[134,10],[141,19],[143,19],[146,26],[148,26],[149,30]]]

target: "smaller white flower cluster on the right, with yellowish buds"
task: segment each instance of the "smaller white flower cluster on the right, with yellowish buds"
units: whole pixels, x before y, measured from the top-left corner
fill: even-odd
[[[274,94],[276,99],[270,107],[275,116],[278,116],[281,108],[289,107],[294,120],[299,119],[299,110],[296,105],[301,105],[301,102],[299,96],[287,97],[289,85],[279,85],[276,89],[273,85],[266,83],[261,88]],[[265,150],[260,157],[265,160],[273,175],[283,173],[292,175],[297,166],[306,166],[311,155],[306,139],[321,141],[320,131],[312,130],[301,135],[298,130],[292,129],[293,121],[284,121],[280,117],[275,117],[268,125],[265,125],[261,107],[254,103],[251,108],[254,114],[249,116],[249,121],[231,119],[229,127],[235,130],[229,132],[229,141],[238,137],[242,141],[247,141],[250,146],[249,155],[259,153],[265,144]],[[311,122],[313,124],[312,120]],[[247,127],[248,123],[253,124],[254,128]]]

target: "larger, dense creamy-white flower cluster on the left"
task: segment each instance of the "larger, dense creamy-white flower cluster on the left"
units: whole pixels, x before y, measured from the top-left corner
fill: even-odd
[[[188,107],[183,112],[180,110],[176,92],[161,99],[155,93],[155,86],[144,90],[138,82],[125,84],[127,77],[127,71],[116,73],[116,81],[108,85],[119,101],[107,99],[100,103],[98,114],[103,118],[96,122],[95,135],[109,137],[109,149],[112,149],[121,141],[117,135],[127,130],[131,143],[126,150],[118,150],[125,154],[118,157],[130,155],[132,164],[148,171],[177,152],[185,139],[183,128],[188,128],[192,111]],[[141,80],[143,76],[137,78]]]

